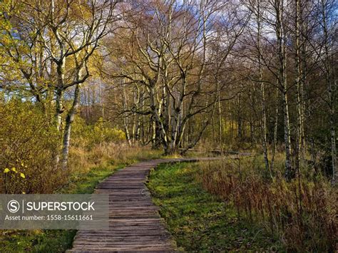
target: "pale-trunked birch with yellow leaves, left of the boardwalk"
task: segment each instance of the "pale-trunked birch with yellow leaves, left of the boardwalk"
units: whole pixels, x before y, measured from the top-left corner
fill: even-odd
[[[90,76],[88,63],[93,53],[113,27],[116,2],[30,0],[16,4],[22,4],[25,12],[13,16],[19,20],[14,23],[17,34],[13,31],[7,33],[13,40],[19,36],[28,51],[22,52],[14,47],[7,53],[15,62],[21,63],[21,73],[36,101],[43,103],[46,94],[55,100],[54,122],[62,136],[61,167],[66,170],[71,124],[78,110],[80,86]],[[26,56],[30,59],[28,65],[24,64]],[[66,91],[73,93],[71,98],[66,98]],[[71,104],[68,110],[65,100]],[[56,167],[58,160],[57,154]]]

